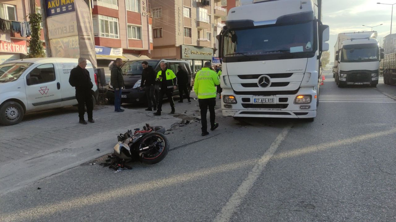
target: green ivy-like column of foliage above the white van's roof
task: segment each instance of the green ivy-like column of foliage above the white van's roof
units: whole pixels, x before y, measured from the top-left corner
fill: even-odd
[[[29,14],[29,23],[30,30],[32,32],[32,38],[29,41],[29,58],[42,58],[46,57],[46,53],[44,52],[43,44],[40,40],[41,36],[41,27],[40,24],[42,22],[41,14],[38,13],[30,13]]]

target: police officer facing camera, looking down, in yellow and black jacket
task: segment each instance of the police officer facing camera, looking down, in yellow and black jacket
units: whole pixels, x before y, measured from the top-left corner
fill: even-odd
[[[158,93],[158,109],[154,115],[160,116],[162,111],[162,99],[166,95],[171,104],[172,111],[169,114],[175,113],[175,102],[173,102],[173,90],[176,89],[177,78],[172,70],[166,68],[166,63],[161,62],[161,70],[157,73],[156,81],[160,82],[160,93]]]

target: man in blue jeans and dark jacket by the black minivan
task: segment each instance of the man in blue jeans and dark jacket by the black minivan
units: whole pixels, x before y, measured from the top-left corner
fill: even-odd
[[[124,87],[124,77],[122,76],[122,59],[117,58],[111,69],[110,83],[114,88],[114,111],[117,113],[124,112],[121,109],[121,94],[122,88]]]

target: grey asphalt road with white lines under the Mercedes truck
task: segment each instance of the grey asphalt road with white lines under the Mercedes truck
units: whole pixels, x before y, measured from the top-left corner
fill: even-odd
[[[331,77],[314,122],[218,110],[206,137],[198,122],[167,132],[159,164],[82,164],[2,195],[0,221],[396,221],[396,86]]]

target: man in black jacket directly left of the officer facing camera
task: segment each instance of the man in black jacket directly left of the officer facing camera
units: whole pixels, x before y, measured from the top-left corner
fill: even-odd
[[[154,111],[157,110],[157,101],[155,100],[154,92],[155,92],[155,79],[157,74],[154,69],[148,65],[147,61],[142,62],[143,71],[142,71],[142,81],[140,89],[143,89],[143,86],[146,90],[147,103],[148,108],[146,111],[152,111],[151,107],[154,106]],[[151,103],[152,102],[152,103]]]

